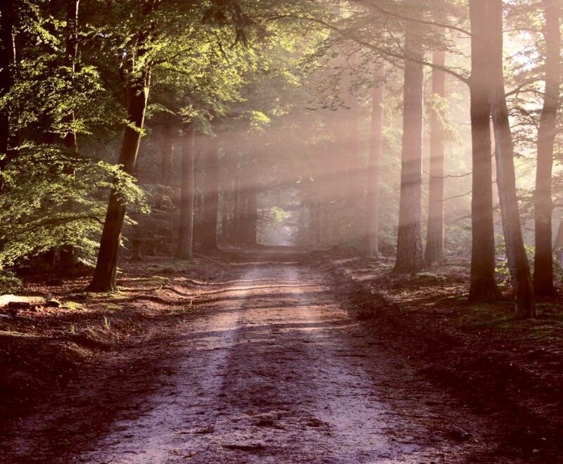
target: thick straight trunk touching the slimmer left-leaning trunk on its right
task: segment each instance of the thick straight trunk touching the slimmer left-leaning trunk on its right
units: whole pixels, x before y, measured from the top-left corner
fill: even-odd
[[[491,104],[488,96],[486,3],[471,0],[471,61],[469,79],[472,133],[472,258],[469,302],[494,302],[500,296],[495,283],[495,224],[493,220],[493,154]]]

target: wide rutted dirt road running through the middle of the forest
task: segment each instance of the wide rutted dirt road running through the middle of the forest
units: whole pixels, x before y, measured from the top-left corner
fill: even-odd
[[[120,408],[96,439],[64,454],[56,451],[62,433],[38,445],[61,419],[36,415],[36,426],[23,424],[11,444],[15,455],[30,459],[35,441],[33,458],[48,462],[455,463],[494,456],[493,425],[382,349],[341,309],[338,289],[321,273],[255,264],[216,288],[177,336],[140,353],[151,362],[122,377]],[[84,420],[86,406],[71,409],[69,417]]]

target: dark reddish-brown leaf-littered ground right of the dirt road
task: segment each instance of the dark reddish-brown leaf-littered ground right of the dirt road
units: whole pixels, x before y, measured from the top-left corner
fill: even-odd
[[[389,351],[472,411],[504,424],[507,453],[526,462],[563,461],[561,297],[541,300],[537,318],[518,321],[510,285],[501,285],[503,301],[467,304],[464,259],[415,275],[393,273],[384,260],[333,258],[319,265],[348,295],[349,313]]]

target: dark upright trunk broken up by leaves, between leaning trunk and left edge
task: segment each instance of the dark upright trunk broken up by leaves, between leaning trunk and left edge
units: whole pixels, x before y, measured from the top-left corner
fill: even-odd
[[[80,0],[68,0],[67,3],[67,34],[66,34],[66,46],[65,55],[67,65],[70,67],[72,79],[76,72],[76,60],[78,56],[78,8],[80,6]],[[66,120],[73,124],[75,122],[75,113],[70,112]],[[78,153],[78,143],[76,138],[76,131],[71,129],[65,135],[64,145],[70,151],[77,155]],[[65,167],[66,174],[74,174],[75,169],[72,166]],[[76,266],[76,250],[72,245],[63,245],[61,247],[61,270],[63,275],[73,276],[75,273]]]

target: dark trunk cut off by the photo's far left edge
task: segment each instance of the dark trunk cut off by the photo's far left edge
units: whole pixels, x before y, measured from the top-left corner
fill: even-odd
[[[14,11],[13,0],[0,1],[0,98],[4,98],[13,86],[13,63],[14,43],[13,24]],[[9,155],[10,141],[10,103],[6,102],[4,108],[0,109],[0,187],[2,185],[2,172],[6,169]]]

